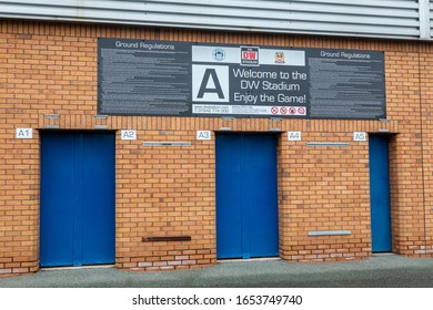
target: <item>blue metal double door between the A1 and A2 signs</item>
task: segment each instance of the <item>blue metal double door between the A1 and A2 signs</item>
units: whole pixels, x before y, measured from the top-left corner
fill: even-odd
[[[41,135],[40,264],[114,262],[114,135]]]

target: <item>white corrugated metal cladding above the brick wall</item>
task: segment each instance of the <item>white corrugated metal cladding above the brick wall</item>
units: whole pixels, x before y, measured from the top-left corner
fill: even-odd
[[[0,0],[0,17],[430,39],[429,0]]]

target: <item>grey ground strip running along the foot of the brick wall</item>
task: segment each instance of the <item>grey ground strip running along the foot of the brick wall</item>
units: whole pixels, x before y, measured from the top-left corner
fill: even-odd
[[[293,264],[284,260],[219,262],[159,272],[115,268],[42,270],[0,279],[0,288],[433,288],[433,259],[377,256],[360,261]]]

